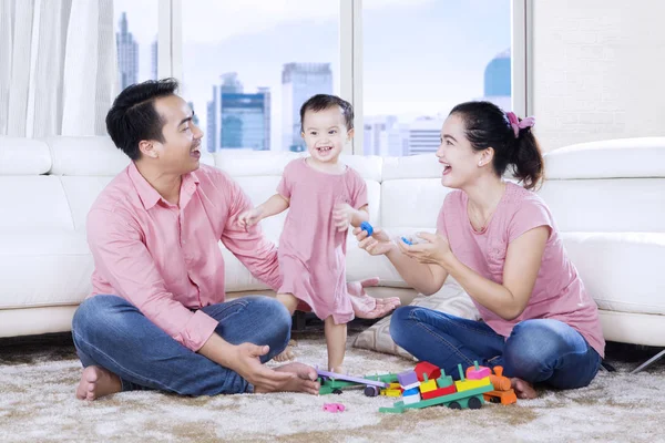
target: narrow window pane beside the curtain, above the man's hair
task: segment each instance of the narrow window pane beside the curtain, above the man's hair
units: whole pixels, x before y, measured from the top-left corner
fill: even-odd
[[[114,0],[119,91],[157,79],[158,0]]]

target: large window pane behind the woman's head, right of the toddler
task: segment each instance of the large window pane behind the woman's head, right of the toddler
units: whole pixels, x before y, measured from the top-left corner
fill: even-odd
[[[434,152],[461,102],[510,110],[510,0],[377,3],[362,9],[365,154]]]

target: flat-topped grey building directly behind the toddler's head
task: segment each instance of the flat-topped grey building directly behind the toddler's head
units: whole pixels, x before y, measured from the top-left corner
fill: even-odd
[[[300,136],[300,106],[315,94],[332,94],[330,63],[286,63],[282,70],[284,150],[306,150]]]

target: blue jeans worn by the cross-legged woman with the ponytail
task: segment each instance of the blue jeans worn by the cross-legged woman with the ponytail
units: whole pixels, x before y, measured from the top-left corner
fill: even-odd
[[[508,340],[488,324],[416,306],[392,315],[390,336],[397,344],[459,379],[462,368],[503,367],[505,377],[557,389],[591,383],[601,357],[580,332],[559,320],[524,320]]]

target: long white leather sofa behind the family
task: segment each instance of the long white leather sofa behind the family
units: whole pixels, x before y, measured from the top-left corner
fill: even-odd
[[[297,155],[226,151],[203,162],[226,171],[259,203]],[[434,229],[449,189],[433,155],[345,161],[368,183],[375,225],[396,235]],[[0,137],[0,337],[70,330],[91,290],[85,215],[127,162],[105,137]],[[665,347],[665,137],[557,150],[546,156],[546,176],[541,195],[601,309],[605,338]],[[284,214],[263,223],[274,241],[283,222]],[[374,296],[413,298],[385,258],[349,241],[349,280],[378,276]],[[268,292],[224,254],[229,297]]]

